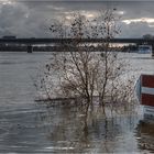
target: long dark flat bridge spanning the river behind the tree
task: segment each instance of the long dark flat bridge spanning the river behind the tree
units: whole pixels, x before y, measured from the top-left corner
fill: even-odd
[[[76,41],[75,38],[0,38],[0,44],[24,44],[28,45],[28,53],[33,52],[33,45],[35,44],[57,44],[57,43],[70,43]],[[148,44],[153,47],[154,54],[154,38],[81,38],[80,43],[134,43],[134,44]]]

